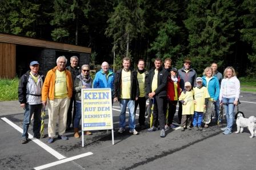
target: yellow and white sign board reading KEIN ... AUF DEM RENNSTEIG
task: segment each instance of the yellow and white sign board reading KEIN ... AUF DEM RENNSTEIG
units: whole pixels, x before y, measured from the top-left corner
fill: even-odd
[[[82,89],[82,131],[113,129],[110,88]]]

